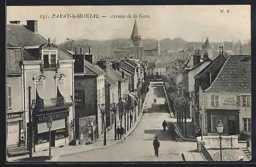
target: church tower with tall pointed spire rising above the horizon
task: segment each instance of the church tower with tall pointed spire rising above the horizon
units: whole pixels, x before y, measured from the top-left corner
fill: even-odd
[[[135,20],[134,22],[134,26],[133,26],[133,32],[131,35],[131,39],[133,41],[134,44],[134,50],[135,50],[135,57],[136,58],[140,58],[142,55],[139,52],[139,46],[140,46],[140,41],[141,41],[141,35],[139,35],[138,33],[138,27],[137,27],[137,21]],[[141,47],[141,46],[140,46]]]

